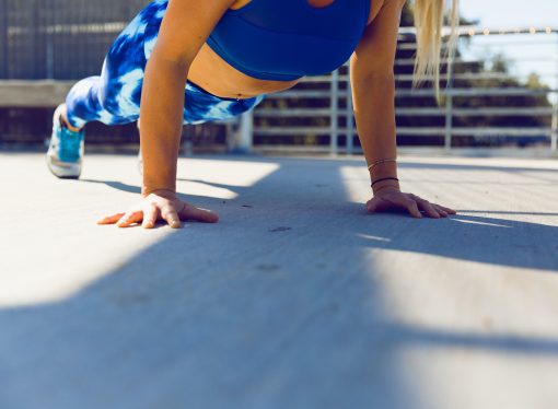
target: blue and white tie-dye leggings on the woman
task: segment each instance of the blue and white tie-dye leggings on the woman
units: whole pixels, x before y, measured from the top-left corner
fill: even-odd
[[[86,78],[71,89],[66,104],[68,120],[73,127],[81,128],[93,120],[118,125],[139,118],[146,63],[156,43],[166,5],[167,0],[155,0],[143,9],[112,45],[101,77]],[[188,81],[184,122],[231,118],[252,109],[264,97],[223,98]]]

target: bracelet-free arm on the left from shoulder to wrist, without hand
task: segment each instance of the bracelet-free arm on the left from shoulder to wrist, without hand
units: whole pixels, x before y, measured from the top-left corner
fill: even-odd
[[[146,67],[140,117],[142,195],[176,191],[184,87],[191,61],[233,0],[171,0]]]

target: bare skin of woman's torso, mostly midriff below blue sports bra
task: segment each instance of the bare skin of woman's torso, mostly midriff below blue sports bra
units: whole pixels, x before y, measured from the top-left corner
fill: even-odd
[[[237,9],[251,0],[239,0],[232,8]],[[307,0],[312,7],[327,7],[333,1],[342,0]],[[375,19],[385,0],[371,0],[368,23]],[[229,98],[248,98],[259,94],[267,94],[288,90],[300,80],[268,81],[258,80],[244,74],[226,63],[207,44],[199,50],[191,62],[188,80],[200,85],[211,94]]]

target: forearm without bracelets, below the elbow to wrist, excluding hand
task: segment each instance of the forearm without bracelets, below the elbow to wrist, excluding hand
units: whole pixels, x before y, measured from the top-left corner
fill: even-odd
[[[176,191],[187,72],[184,65],[155,54],[146,67],[140,107],[143,196],[158,189]]]

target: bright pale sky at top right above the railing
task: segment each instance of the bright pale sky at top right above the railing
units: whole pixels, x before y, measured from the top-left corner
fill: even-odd
[[[487,28],[554,27],[558,30],[558,0],[461,0],[460,11]],[[514,74],[536,72],[558,89],[558,34],[478,36],[464,50],[466,58],[503,54],[512,60]]]

